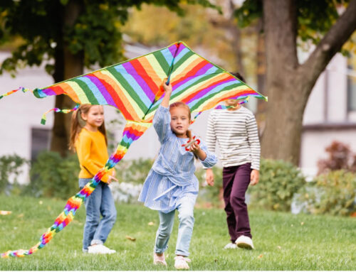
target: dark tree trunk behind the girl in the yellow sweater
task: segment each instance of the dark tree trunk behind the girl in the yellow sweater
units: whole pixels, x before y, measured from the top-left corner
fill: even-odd
[[[81,5],[78,1],[70,1],[64,9],[63,26],[73,26],[78,18]],[[62,31],[62,30],[61,30]],[[72,54],[66,43],[63,42],[63,34],[58,38],[55,56],[55,73],[53,78],[55,82],[61,82],[69,78],[83,74],[83,52]],[[67,95],[56,96],[56,108],[72,109],[74,102]],[[52,129],[51,151],[61,153],[61,156],[68,154],[68,143],[70,137],[70,117],[71,114],[54,115],[54,124]]]

